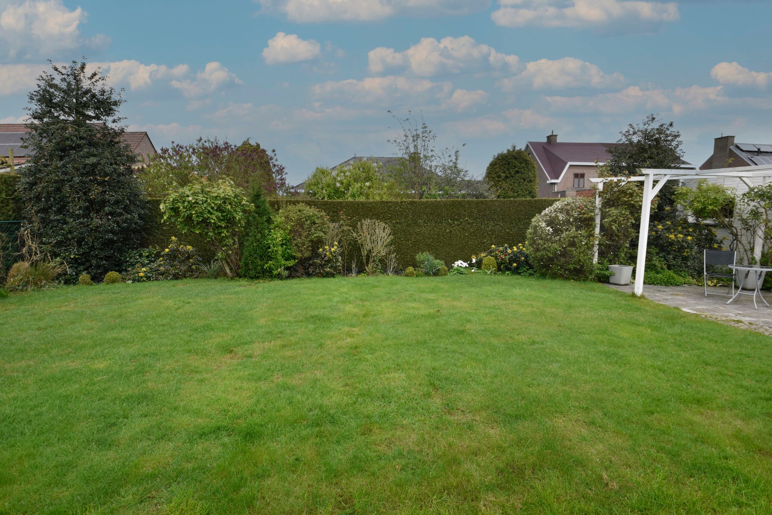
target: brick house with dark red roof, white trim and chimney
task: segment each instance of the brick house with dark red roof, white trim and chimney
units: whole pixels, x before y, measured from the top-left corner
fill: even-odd
[[[598,163],[611,158],[608,149],[619,143],[559,143],[557,134],[547,136],[547,141],[528,141],[526,153],[536,163],[539,174],[538,196],[576,197],[589,195],[591,178],[598,178]],[[683,161],[681,168],[693,170],[692,164]]]

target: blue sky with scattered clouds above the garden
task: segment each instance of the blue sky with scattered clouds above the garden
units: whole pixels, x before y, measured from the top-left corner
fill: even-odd
[[[772,142],[770,32],[772,2],[750,0],[0,0],[0,120],[22,120],[46,59],[87,56],[157,147],[251,137],[292,183],[392,155],[388,110],[422,111],[475,174],[648,113],[701,164],[722,133]]]

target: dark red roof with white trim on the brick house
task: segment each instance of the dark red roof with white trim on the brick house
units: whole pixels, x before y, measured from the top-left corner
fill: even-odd
[[[557,138],[557,137],[554,137]],[[622,143],[562,143],[554,141],[528,141],[534,157],[537,158],[542,170],[550,181],[559,181],[572,164],[594,165],[595,161],[604,163],[611,159],[608,149],[621,147]],[[693,165],[682,161],[683,168]]]

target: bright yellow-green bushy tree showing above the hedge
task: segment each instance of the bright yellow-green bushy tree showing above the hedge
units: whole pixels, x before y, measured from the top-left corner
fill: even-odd
[[[318,167],[306,179],[306,192],[320,200],[385,200],[399,198],[393,180],[381,166],[363,159],[340,168]]]

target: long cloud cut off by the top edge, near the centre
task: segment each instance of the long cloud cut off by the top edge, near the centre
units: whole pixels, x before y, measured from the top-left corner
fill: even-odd
[[[462,15],[487,8],[490,0],[255,0],[261,12],[293,22],[365,22],[396,15]]]

